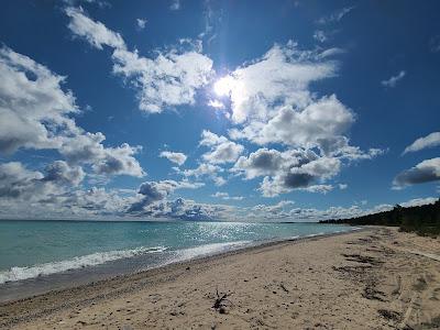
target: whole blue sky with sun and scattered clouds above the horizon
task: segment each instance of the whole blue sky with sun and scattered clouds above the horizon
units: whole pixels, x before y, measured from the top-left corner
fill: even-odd
[[[1,219],[317,221],[439,196],[438,1],[1,7]]]

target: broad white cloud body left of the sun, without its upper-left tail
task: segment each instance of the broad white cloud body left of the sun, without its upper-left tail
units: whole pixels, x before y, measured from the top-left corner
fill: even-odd
[[[116,50],[113,73],[138,89],[139,108],[160,113],[166,107],[194,105],[197,89],[212,75],[212,61],[195,50],[177,48],[150,59],[138,52]]]

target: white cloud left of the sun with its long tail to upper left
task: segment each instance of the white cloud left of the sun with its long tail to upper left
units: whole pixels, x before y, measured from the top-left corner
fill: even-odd
[[[129,51],[121,35],[101,22],[88,18],[80,9],[66,9],[68,28],[97,48],[113,48],[113,73],[138,91],[139,108],[160,113],[166,107],[194,105],[197,89],[207,85],[213,70],[212,61],[201,54],[198,42],[182,40],[178,47],[156,51],[155,58]]]

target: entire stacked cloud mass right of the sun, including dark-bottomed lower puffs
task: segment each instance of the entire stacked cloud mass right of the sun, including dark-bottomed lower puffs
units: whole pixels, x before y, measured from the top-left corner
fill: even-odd
[[[346,136],[354,112],[336,95],[318,96],[310,84],[337,75],[336,50],[300,51],[293,42],[273,46],[262,58],[248,63],[215,84],[230,99],[232,140],[261,146],[238,158],[231,172],[245,179],[263,176],[260,190],[272,197],[293,189],[328,193],[326,183],[343,163],[372,160],[383,150],[361,150]]]

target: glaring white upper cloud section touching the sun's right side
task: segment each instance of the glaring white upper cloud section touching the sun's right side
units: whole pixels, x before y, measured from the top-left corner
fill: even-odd
[[[265,122],[283,106],[306,107],[311,98],[309,84],[332,77],[336,70],[336,62],[326,61],[321,53],[298,51],[289,42],[237,68],[215,88],[231,98],[234,123]]]

